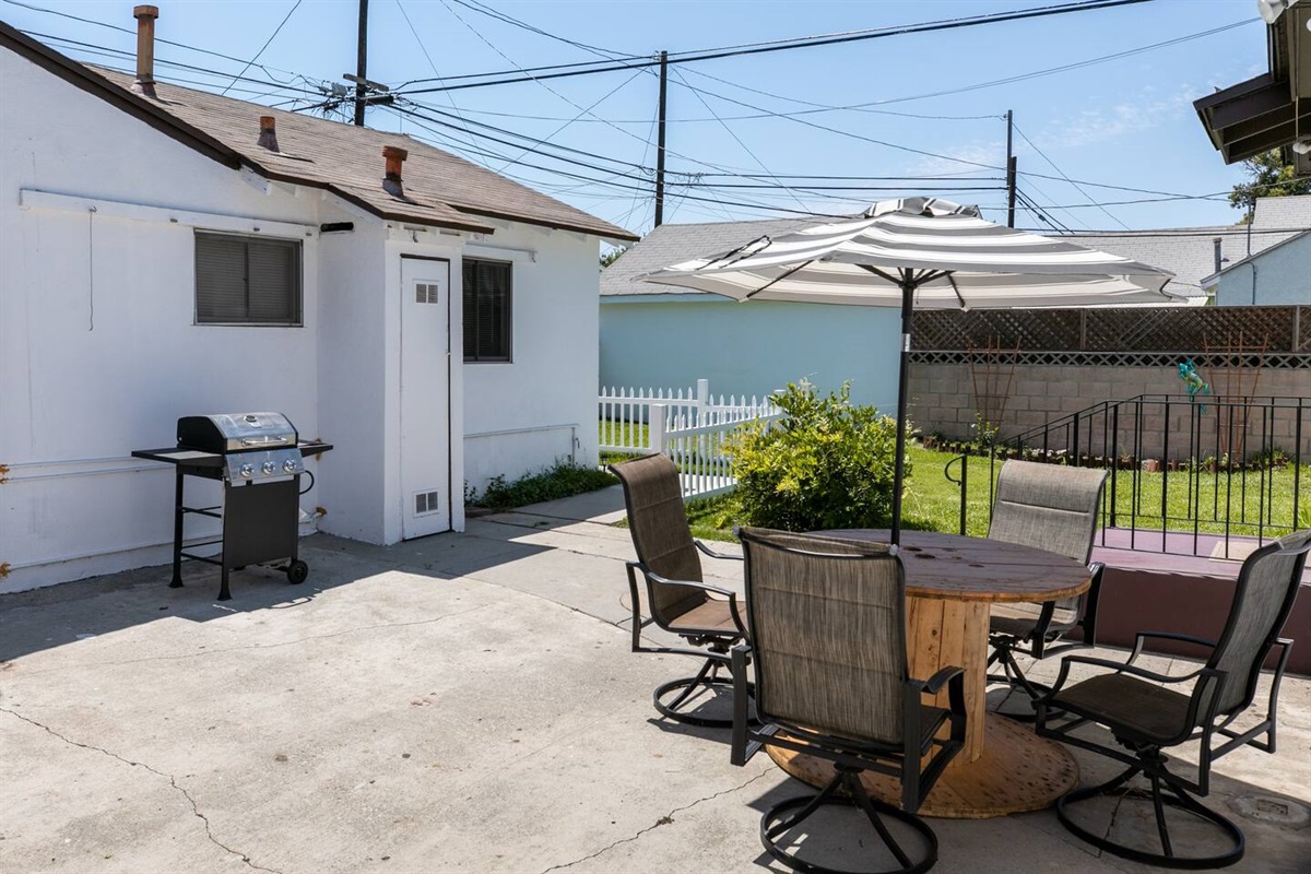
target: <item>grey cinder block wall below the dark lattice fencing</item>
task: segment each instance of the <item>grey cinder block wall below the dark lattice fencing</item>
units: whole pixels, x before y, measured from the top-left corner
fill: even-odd
[[[1006,372],[1003,370],[1000,379],[994,380],[998,383],[995,389],[988,389],[981,381],[981,390],[995,390],[999,394],[1006,394]],[[977,409],[973,377],[969,364],[911,364],[910,418],[922,434],[941,431],[950,439],[961,440],[974,436],[970,430],[975,421]],[[1214,376],[1210,379],[1217,383],[1215,389],[1223,389],[1219,379]],[[1239,380],[1235,379],[1230,388],[1238,390]],[[1256,397],[1311,398],[1311,370],[1262,370],[1256,379],[1255,389],[1251,376],[1247,376],[1242,380],[1242,390],[1244,394]],[[1168,432],[1172,435],[1173,446],[1184,447],[1188,439],[1189,417],[1193,414],[1184,402],[1186,398],[1185,387],[1179,379],[1179,372],[1169,367],[1017,364],[1009,380],[1008,394],[1004,415],[1000,417],[999,422],[994,422],[994,425],[1000,426],[1003,439],[1042,427],[1103,401],[1126,400],[1138,394],[1169,394],[1181,398],[1181,401],[1177,406],[1171,405]],[[1215,408],[1209,409],[1211,419],[1203,418],[1203,427],[1207,431],[1215,431]],[[1164,447],[1160,438],[1167,432],[1164,408],[1146,409],[1142,425],[1143,455],[1163,455]],[[1273,444],[1291,455],[1297,444],[1297,417],[1291,414],[1276,415],[1269,430]],[[1253,442],[1249,451],[1255,451],[1255,435],[1261,432],[1260,426],[1256,422],[1249,423],[1248,432],[1248,439]],[[1215,436],[1226,442],[1231,439],[1228,434],[1213,435],[1213,440]],[[1120,446],[1131,446],[1133,438],[1131,426],[1126,425],[1120,435]],[[1234,439],[1236,440],[1236,438]],[[1302,457],[1311,457],[1308,414],[1302,415],[1301,443]],[[1181,456],[1184,452],[1172,451],[1169,455]]]

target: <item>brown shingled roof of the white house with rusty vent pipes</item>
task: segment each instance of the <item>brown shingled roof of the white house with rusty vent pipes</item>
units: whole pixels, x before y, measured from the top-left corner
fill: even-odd
[[[485,219],[581,231],[611,240],[637,237],[555,198],[412,136],[269,109],[208,92],[156,84],[156,97],[131,90],[132,76],[88,67],[0,22],[0,45],[106,100],[228,166],[273,181],[326,189],[383,219],[493,232]],[[258,145],[260,117],[277,123],[279,152]],[[409,153],[404,194],[383,189],[383,147]]]

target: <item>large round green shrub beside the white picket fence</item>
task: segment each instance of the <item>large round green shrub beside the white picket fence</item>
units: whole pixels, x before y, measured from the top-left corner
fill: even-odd
[[[775,402],[781,421],[747,426],[725,447],[741,518],[784,531],[889,525],[897,421],[852,405],[847,384],[819,397],[789,383]]]

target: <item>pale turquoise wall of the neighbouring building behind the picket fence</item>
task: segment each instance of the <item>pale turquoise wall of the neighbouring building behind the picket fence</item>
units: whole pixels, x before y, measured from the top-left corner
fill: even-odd
[[[821,390],[851,380],[851,397],[897,411],[901,311],[705,295],[603,297],[600,384],[669,387],[711,381],[712,394],[768,394],[805,377]]]

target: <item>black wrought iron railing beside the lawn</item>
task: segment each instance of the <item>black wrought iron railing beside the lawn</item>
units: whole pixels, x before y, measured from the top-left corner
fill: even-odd
[[[988,504],[1007,459],[1109,468],[1100,545],[1242,557],[1231,546],[1311,527],[1308,447],[1307,397],[1105,401],[998,442]]]

